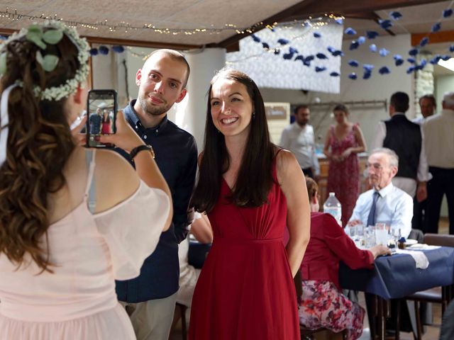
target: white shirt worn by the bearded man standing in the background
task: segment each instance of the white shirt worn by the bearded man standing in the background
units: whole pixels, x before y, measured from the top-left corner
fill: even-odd
[[[315,174],[320,174],[312,125],[306,124],[301,128],[296,122],[290,124],[282,131],[280,146],[295,155],[301,169],[314,168]]]

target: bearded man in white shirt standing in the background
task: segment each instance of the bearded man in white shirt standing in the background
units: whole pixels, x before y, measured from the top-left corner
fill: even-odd
[[[306,105],[294,110],[295,121],[282,131],[280,146],[290,150],[304,175],[315,179],[320,174],[319,160],[315,153],[314,128],[309,125],[311,113]]]

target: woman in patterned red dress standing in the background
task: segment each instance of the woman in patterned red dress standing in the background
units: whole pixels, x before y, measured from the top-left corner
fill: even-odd
[[[348,121],[348,108],[342,104],[334,110],[336,125],[331,125],[323,153],[329,159],[328,193],[336,193],[342,205],[342,225],[345,227],[360,194],[358,153],[366,144],[358,124]]]

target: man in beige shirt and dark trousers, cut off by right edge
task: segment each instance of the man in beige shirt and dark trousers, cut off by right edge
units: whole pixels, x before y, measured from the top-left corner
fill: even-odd
[[[443,110],[423,124],[429,171],[426,232],[438,232],[443,195],[448,199],[449,233],[454,234],[454,92],[443,96]]]

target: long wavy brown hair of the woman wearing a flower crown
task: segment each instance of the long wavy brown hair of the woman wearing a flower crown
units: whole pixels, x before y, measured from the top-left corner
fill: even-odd
[[[80,66],[78,50],[66,35],[45,50],[26,37],[11,40],[4,50],[7,67],[0,81],[1,92],[15,81],[23,84],[9,96],[6,162],[0,168],[0,254],[18,267],[28,254],[41,272],[52,272],[48,195],[65,185],[62,171],[75,145],[65,114],[66,98],[40,100],[33,87],[60,86],[72,79]],[[43,57],[52,54],[60,58],[52,72],[45,72],[36,60],[38,50]]]

